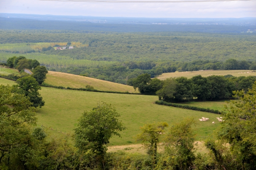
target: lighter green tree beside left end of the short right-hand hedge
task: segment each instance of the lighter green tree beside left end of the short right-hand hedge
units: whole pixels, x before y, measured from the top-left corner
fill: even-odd
[[[162,89],[158,90],[156,95],[162,100],[172,100],[174,98],[176,84],[175,79],[167,78],[164,80]]]

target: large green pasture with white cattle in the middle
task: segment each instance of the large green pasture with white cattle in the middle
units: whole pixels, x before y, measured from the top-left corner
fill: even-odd
[[[14,81],[0,78],[0,84],[14,84]],[[172,125],[184,117],[192,116],[196,121],[201,117],[209,117],[210,121],[197,121],[197,125],[194,127],[197,134],[196,139],[210,135],[219,125],[218,122],[212,124],[212,121],[216,121],[216,114],[156,105],[154,101],[158,100],[157,96],[83,92],[45,87],[42,87],[40,93],[45,101],[45,106],[37,111],[38,124],[65,133],[72,133],[82,112],[85,109],[92,109],[97,102],[104,101],[115,106],[118,113],[121,114],[120,120],[127,129],[121,132],[122,138],[113,137],[111,139],[112,145],[135,143],[134,137],[144,123],[166,121]]]

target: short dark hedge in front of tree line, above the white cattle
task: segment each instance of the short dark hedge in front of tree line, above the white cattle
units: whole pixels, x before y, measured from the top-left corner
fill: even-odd
[[[190,109],[190,110],[196,110],[196,111],[204,111],[204,112],[209,112],[209,113],[215,113],[215,114],[221,114],[221,111],[214,110],[214,109],[209,109],[209,108],[202,108],[202,107],[195,107],[195,106],[190,106],[190,105],[182,105],[182,104],[174,104],[174,103],[168,103],[164,102],[163,100],[158,100],[156,101],[156,104],[159,105],[165,105],[165,106],[172,106],[172,107],[179,107],[182,109]]]

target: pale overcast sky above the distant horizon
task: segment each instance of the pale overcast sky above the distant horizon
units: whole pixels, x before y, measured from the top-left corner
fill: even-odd
[[[0,0],[0,13],[150,18],[241,18],[256,17],[256,0],[200,3]]]

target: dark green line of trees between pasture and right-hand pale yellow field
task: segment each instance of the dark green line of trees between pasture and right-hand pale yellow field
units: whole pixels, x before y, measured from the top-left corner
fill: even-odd
[[[256,81],[255,76],[208,76],[192,78],[178,77],[159,80],[150,78],[150,74],[141,74],[132,78],[129,84],[143,94],[156,94],[159,100],[166,102],[187,102],[194,98],[198,101],[223,100],[232,98],[235,90],[248,90]]]

